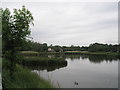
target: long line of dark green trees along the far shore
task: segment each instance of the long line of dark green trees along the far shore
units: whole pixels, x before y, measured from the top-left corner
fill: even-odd
[[[51,49],[52,52],[63,52],[63,51],[89,51],[89,52],[120,52],[120,44],[101,44],[93,43],[89,46],[59,46],[47,45],[47,43],[38,43],[34,41],[25,41],[21,51],[37,51],[37,52],[48,52]]]

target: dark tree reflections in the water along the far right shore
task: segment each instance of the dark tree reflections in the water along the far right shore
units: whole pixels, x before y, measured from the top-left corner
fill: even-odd
[[[71,60],[86,60],[89,59],[93,63],[101,63],[103,61],[112,62],[120,60],[119,56],[109,56],[109,55],[66,55],[66,58]]]

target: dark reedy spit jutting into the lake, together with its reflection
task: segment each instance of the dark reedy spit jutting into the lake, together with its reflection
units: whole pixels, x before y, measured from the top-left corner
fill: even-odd
[[[29,69],[53,71],[67,66],[67,61],[63,58],[47,58],[27,56],[22,60],[22,65]]]

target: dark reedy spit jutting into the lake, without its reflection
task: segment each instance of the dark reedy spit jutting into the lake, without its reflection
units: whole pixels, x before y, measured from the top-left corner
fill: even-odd
[[[67,61],[63,58],[48,58],[48,57],[35,57],[35,56],[24,56],[21,62],[25,66],[66,66]]]

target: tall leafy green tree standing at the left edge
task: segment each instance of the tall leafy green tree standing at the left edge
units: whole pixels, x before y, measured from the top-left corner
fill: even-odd
[[[11,62],[11,68],[15,66],[16,53],[30,35],[30,24],[33,24],[33,20],[31,12],[25,6],[14,9],[13,14],[8,8],[2,9],[3,54]]]

